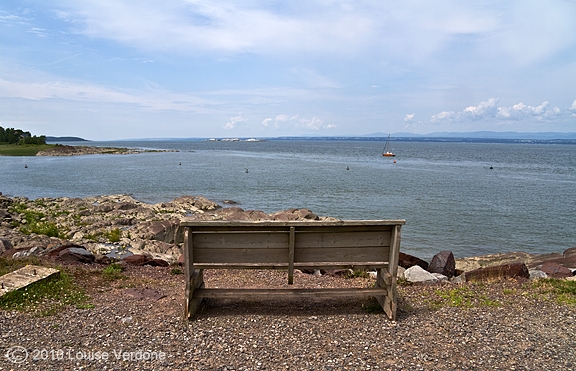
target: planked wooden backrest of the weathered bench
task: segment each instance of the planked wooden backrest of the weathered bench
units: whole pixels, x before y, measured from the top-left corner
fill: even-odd
[[[272,264],[390,262],[399,249],[403,220],[337,222],[190,221],[185,227],[188,262]]]

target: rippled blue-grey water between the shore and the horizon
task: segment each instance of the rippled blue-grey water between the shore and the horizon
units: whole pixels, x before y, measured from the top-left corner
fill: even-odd
[[[406,219],[402,250],[422,258],[576,246],[574,145],[393,142],[394,163],[383,142],[369,141],[90,144],[180,152],[0,157],[0,191],[150,203],[202,195],[268,213]]]

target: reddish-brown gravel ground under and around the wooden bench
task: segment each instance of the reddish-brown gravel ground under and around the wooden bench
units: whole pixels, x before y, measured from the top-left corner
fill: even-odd
[[[129,267],[112,282],[102,267],[68,269],[94,308],[0,312],[0,370],[576,369],[575,308],[527,282],[401,286],[397,322],[374,311],[374,300],[355,298],[212,299],[188,322],[184,276],[171,268]],[[287,286],[276,271],[208,271],[205,280]],[[295,283],[371,281],[296,273]]]

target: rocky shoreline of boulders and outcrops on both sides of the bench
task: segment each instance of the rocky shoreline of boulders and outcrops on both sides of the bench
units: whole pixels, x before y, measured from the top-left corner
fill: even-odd
[[[308,209],[266,214],[243,210],[234,201],[223,203],[226,207],[202,196],[147,204],[121,194],[36,200],[0,195],[0,254],[16,258],[49,255],[84,263],[124,260],[137,265],[168,266],[181,258],[180,222],[185,219],[335,220]],[[401,253],[399,264],[399,278],[410,282],[461,282],[466,277],[571,279],[576,271],[576,248],[563,253],[513,252],[459,259],[454,259],[450,251],[441,251],[431,262]]]

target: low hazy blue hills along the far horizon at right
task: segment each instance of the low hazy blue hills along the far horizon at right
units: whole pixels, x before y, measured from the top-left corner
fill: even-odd
[[[387,137],[388,133],[374,133],[364,137]],[[515,140],[554,140],[576,139],[576,133],[519,133],[514,131],[474,131],[474,132],[436,132],[430,134],[393,133],[394,138],[470,138],[470,139],[515,139]]]

